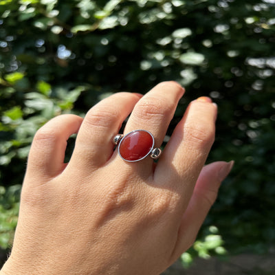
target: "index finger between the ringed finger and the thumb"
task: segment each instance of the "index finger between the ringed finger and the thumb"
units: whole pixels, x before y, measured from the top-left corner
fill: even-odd
[[[169,179],[188,201],[201,168],[214,142],[217,105],[208,101],[191,102],[177,124],[155,170],[155,179]],[[164,177],[165,173],[165,177]],[[181,183],[181,184],[179,184]]]

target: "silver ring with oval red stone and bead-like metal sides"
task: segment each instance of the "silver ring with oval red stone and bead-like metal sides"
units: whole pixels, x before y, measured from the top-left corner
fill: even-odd
[[[113,144],[118,145],[118,155],[126,162],[138,162],[148,155],[158,159],[162,153],[159,148],[154,148],[155,139],[146,130],[135,130],[126,135],[115,135]]]

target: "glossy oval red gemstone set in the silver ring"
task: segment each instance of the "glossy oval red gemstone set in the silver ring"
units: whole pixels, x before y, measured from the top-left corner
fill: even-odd
[[[146,157],[153,146],[153,135],[144,130],[137,130],[124,136],[118,150],[123,159],[135,162]]]

